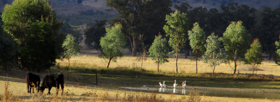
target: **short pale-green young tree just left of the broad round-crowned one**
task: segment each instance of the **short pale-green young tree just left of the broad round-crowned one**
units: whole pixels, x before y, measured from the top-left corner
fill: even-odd
[[[215,71],[215,67],[223,63],[224,54],[220,47],[221,44],[218,40],[218,36],[215,36],[213,32],[210,36],[207,37],[205,45],[206,51],[202,56],[204,63],[208,63],[208,66],[214,67],[213,73]]]

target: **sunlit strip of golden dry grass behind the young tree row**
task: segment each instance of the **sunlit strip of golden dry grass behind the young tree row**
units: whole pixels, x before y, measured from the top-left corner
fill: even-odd
[[[95,54],[85,54],[86,53],[95,53]],[[76,64],[83,64],[85,66],[101,66],[101,67],[106,67],[107,66],[107,61],[102,58],[98,57],[98,52],[95,50],[84,50],[82,51],[82,54],[80,56],[75,56],[70,59],[70,66],[75,66]],[[188,57],[188,59],[185,59],[184,54],[180,54],[178,58],[178,72],[179,73],[195,73],[196,72],[196,66],[195,63],[196,61],[191,61],[189,58],[192,58],[191,56]],[[118,66],[137,66],[141,67],[141,60],[138,61],[137,58],[141,57],[132,57],[132,56],[123,56],[122,58],[118,58],[116,62],[110,63],[111,68],[115,68]],[[142,68],[146,70],[152,70],[152,71],[157,71],[157,65],[154,63],[153,60],[146,55],[146,60],[143,60],[143,66]],[[160,65],[160,71],[161,72],[174,72],[176,71],[176,59],[172,56],[169,55],[169,62],[164,63]],[[57,60],[57,63],[60,65],[68,65],[68,60],[63,59]],[[232,67],[234,67],[234,64],[231,64]],[[203,63],[202,59],[200,58],[200,61],[198,61],[197,64],[198,67],[198,73],[210,73],[213,72],[213,68],[208,67],[208,64]],[[262,61],[261,65],[258,65],[259,69],[262,69],[264,71],[254,71],[254,73],[257,74],[272,74],[276,76],[280,76],[280,66],[274,63],[273,60],[267,60],[265,59]],[[237,66],[237,72],[236,73],[252,73],[252,68],[250,65],[244,65],[242,62]],[[215,73],[233,73],[232,68],[228,64],[220,64],[219,66],[216,66],[215,68]]]

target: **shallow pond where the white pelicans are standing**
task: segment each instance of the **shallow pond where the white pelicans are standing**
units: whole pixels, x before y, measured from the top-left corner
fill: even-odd
[[[176,93],[176,94],[188,94],[190,89],[181,88],[161,88],[161,87],[143,87],[143,86],[122,86],[119,88],[133,89],[138,91],[150,91],[150,92],[162,92],[162,93]],[[267,99],[280,99],[279,93],[261,93],[261,92],[239,92],[239,91],[220,91],[220,90],[202,90],[197,89],[200,95],[204,96],[218,96],[218,97],[243,97],[243,98],[267,98]]]

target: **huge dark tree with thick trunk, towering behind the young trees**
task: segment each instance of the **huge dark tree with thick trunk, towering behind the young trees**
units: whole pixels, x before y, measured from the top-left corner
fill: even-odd
[[[132,56],[138,50],[139,35],[149,40],[162,31],[165,15],[171,13],[171,0],[106,0],[106,4],[121,14],[122,31],[130,41]]]

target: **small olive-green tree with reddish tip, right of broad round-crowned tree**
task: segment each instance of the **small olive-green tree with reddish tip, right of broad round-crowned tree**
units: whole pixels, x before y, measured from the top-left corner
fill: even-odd
[[[262,45],[259,42],[258,38],[255,38],[253,40],[253,43],[250,45],[250,49],[247,50],[247,53],[245,54],[245,63],[249,64],[253,67],[253,73],[255,70],[255,65],[262,64]]]

